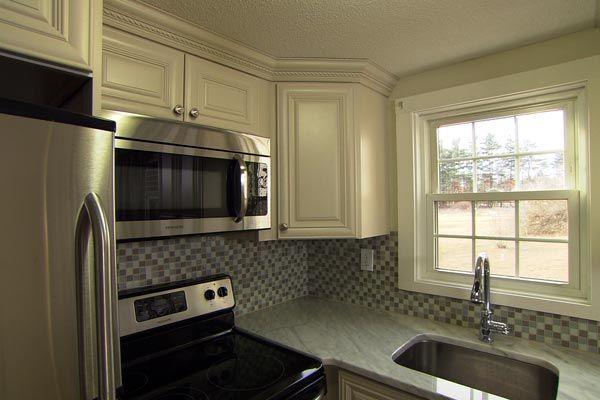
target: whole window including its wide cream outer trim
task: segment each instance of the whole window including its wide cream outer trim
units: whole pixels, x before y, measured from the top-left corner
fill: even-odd
[[[494,304],[600,317],[589,81],[551,68],[397,101],[401,289],[468,299],[485,252]]]

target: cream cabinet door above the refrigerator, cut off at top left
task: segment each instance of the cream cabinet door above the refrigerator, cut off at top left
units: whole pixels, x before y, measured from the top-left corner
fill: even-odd
[[[91,0],[0,0],[0,47],[89,71],[91,6]]]

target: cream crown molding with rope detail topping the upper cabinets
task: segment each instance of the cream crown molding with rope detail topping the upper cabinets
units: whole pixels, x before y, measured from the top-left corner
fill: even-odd
[[[398,77],[367,59],[277,58],[132,0],[105,0],[103,23],[273,82],[354,82],[385,96]]]

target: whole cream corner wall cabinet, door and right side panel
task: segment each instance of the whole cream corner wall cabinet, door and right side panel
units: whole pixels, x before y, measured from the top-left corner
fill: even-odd
[[[359,84],[278,85],[279,237],[389,233],[387,100]]]

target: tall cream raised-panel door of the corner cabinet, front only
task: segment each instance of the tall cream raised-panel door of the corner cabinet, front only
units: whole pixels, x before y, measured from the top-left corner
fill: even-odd
[[[280,238],[354,237],[354,88],[278,85]]]

